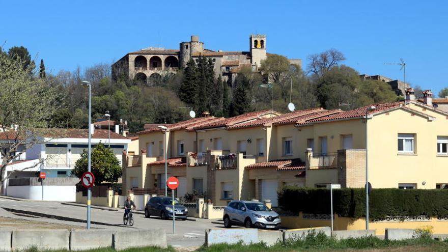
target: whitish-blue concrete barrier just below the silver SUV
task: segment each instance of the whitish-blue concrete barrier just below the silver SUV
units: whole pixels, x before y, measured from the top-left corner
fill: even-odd
[[[239,241],[243,244],[258,243],[257,229],[209,229],[205,232],[207,246],[212,244],[235,244]]]

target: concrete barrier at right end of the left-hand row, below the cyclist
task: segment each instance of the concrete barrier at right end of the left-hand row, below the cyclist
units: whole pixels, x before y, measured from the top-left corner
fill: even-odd
[[[163,229],[116,231],[113,237],[116,250],[130,247],[167,247],[166,232]]]

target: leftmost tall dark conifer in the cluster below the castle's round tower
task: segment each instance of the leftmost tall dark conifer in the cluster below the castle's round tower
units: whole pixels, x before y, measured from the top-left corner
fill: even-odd
[[[194,109],[198,107],[198,89],[199,78],[198,68],[192,59],[187,63],[184,70],[184,81],[182,82],[178,96],[181,101],[192,106]]]

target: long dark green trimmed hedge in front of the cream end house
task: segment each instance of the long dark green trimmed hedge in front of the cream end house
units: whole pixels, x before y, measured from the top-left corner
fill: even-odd
[[[386,216],[448,216],[448,190],[372,189],[369,218]],[[330,190],[286,186],[278,192],[278,205],[293,213],[329,214]],[[333,189],[333,212],[342,217],[366,216],[366,191],[362,188]]]

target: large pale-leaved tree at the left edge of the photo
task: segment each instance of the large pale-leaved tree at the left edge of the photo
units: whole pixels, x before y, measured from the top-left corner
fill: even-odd
[[[58,91],[50,83],[35,79],[33,69],[17,57],[0,53],[0,165],[1,184],[7,164],[35,144],[42,144],[47,121],[58,110]],[[10,126],[13,126],[10,128]]]

